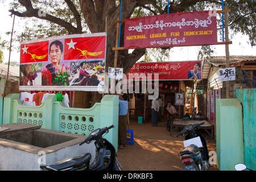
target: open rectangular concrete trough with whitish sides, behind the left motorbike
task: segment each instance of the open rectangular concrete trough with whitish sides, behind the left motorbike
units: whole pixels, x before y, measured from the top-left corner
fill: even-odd
[[[83,144],[86,136],[41,129],[27,123],[0,125],[0,170],[38,171],[40,164],[89,152],[95,158],[93,143]]]

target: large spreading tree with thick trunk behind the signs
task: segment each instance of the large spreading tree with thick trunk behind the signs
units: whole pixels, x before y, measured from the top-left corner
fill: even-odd
[[[106,68],[108,68],[114,65],[115,51],[112,48],[115,47],[117,34],[114,20],[120,16],[120,2],[113,0],[19,0],[10,3],[10,12],[29,20],[25,24],[26,31],[23,33],[23,40],[53,35],[105,32],[106,28],[108,35]],[[167,0],[125,0],[122,1],[122,19],[167,14],[168,9],[170,13],[200,11],[209,8],[210,3],[214,3],[218,10],[221,9],[221,1],[218,0],[170,0],[169,7]],[[226,0],[225,5],[232,10],[229,13],[230,32],[232,31],[234,34],[242,32],[248,35],[251,46],[255,46],[255,1]],[[218,16],[218,22],[220,25],[218,30],[221,31],[221,16]],[[121,24],[121,47],[123,32],[124,23]],[[19,40],[20,37],[21,35],[19,35]],[[146,49],[120,50],[118,51],[117,66],[122,67],[124,73],[127,73],[145,53]]]

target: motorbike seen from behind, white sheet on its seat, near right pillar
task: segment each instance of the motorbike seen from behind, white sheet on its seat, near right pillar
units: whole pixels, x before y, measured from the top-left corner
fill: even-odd
[[[209,170],[207,143],[200,133],[195,132],[203,124],[204,122],[187,125],[180,131],[180,134],[176,136],[179,137],[187,134],[183,141],[185,148],[179,152],[179,158],[181,158],[181,162],[185,164],[183,171]]]

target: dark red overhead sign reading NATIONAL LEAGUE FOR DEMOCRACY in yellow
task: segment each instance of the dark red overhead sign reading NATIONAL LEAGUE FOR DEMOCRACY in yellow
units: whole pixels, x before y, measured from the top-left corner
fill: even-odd
[[[125,20],[124,48],[217,44],[216,16],[209,11],[145,16]]]

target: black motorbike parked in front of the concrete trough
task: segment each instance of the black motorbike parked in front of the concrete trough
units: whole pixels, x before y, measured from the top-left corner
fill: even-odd
[[[89,137],[81,142],[81,146],[84,143],[91,143],[93,141],[97,154],[93,163],[89,165],[92,156],[89,153],[76,156],[74,158],[66,158],[59,160],[52,164],[40,165],[43,171],[121,171],[121,164],[119,164],[117,158],[115,158],[115,148],[108,140],[102,138],[103,134],[109,132],[114,126],[104,127],[102,129],[96,129],[90,133]]]

